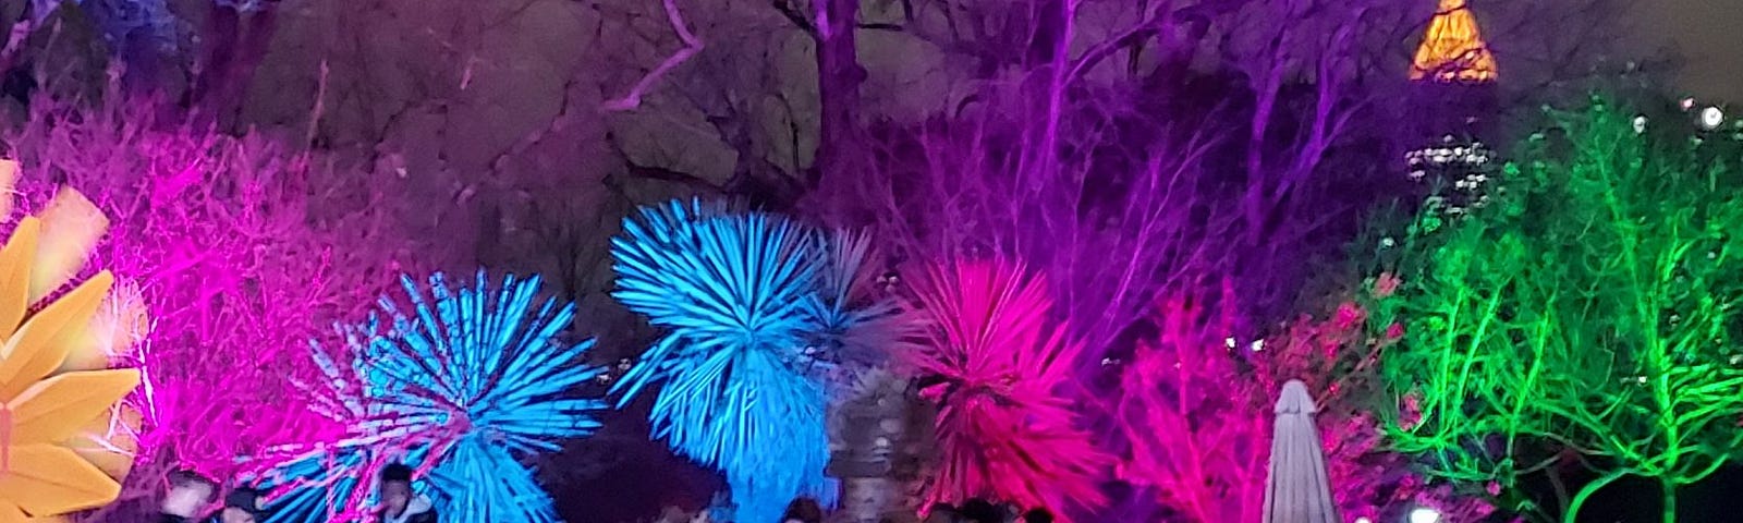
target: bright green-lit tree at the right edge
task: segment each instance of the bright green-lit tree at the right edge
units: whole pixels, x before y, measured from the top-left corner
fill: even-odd
[[[1562,495],[1563,521],[1649,478],[1675,521],[1677,488],[1743,445],[1743,150],[1640,132],[1605,101],[1551,117],[1490,199],[1431,199],[1379,242],[1375,324],[1407,326],[1389,436],[1466,485],[1583,465],[1597,479]]]

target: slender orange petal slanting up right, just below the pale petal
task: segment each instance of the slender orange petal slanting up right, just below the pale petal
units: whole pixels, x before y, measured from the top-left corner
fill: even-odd
[[[98,272],[24,321],[0,347],[0,401],[10,401],[66,361],[66,349],[71,345],[68,338],[91,323],[91,314],[113,282],[108,270]]]

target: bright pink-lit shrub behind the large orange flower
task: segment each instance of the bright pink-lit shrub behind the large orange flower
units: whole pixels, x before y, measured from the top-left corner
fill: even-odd
[[[127,356],[146,384],[131,399],[143,434],[122,502],[152,495],[169,467],[228,479],[274,445],[336,431],[291,380],[317,373],[309,340],[371,305],[394,270],[380,248],[359,249],[387,244],[380,220],[329,204],[347,188],[326,183],[338,173],[321,157],[153,113],[38,101],[3,136],[26,206],[70,185],[108,214],[92,267],[138,288],[152,317]]]

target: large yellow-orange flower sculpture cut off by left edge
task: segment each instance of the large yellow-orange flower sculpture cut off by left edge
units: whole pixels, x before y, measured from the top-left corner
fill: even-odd
[[[70,190],[51,209],[94,211]],[[92,316],[113,275],[99,272],[31,307],[78,272],[92,244],[87,239],[106,227],[101,214],[59,214],[49,223],[21,220],[0,249],[0,523],[101,507],[120,493],[119,476],[132,462],[115,452],[124,455],[131,436],[108,441],[103,431],[136,420],[117,403],[139,384],[139,371],[68,357],[89,345]],[[82,220],[61,220],[68,214]]]

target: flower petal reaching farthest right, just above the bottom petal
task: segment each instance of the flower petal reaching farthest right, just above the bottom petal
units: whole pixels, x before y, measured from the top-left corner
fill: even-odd
[[[139,370],[77,371],[42,380],[7,403],[12,445],[59,443],[139,385]]]

